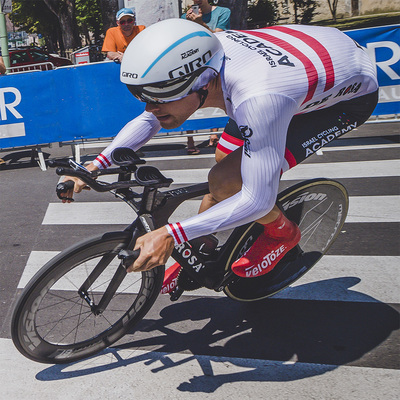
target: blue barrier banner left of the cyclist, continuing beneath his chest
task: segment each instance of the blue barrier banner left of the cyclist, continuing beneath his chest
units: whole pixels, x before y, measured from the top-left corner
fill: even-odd
[[[0,84],[3,149],[109,138],[144,110],[111,62],[3,76]],[[226,121],[188,120],[179,129],[207,129]]]

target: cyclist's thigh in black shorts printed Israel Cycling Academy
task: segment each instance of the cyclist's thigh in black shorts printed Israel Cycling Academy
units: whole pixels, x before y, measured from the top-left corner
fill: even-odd
[[[378,92],[342,101],[323,110],[296,115],[290,122],[285,159],[294,167],[332,140],[362,125],[372,114]]]

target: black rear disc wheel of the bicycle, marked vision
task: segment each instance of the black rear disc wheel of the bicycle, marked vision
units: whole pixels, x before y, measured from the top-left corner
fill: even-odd
[[[299,225],[301,257],[290,252],[268,274],[234,279],[225,294],[239,301],[258,301],[273,296],[307,273],[329,250],[339,235],[348,211],[346,188],[334,180],[314,179],[292,186],[278,195],[278,206]],[[254,243],[260,225],[253,223],[230,254],[225,270]],[[312,240],[310,240],[312,239]],[[292,257],[292,258],[291,258]]]

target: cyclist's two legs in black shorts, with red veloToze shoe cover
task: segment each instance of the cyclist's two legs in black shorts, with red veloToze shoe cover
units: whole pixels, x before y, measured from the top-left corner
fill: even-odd
[[[363,124],[372,114],[377,101],[378,92],[375,92],[324,110],[295,116],[290,123],[286,141],[285,159],[288,168]],[[240,191],[242,144],[243,139],[236,123],[229,120],[216,150],[217,165],[209,174],[210,194],[203,198],[199,212]],[[276,206],[257,222],[264,225],[264,234],[232,265],[235,274],[242,277],[261,276],[271,271],[300,241],[297,225],[289,221]]]

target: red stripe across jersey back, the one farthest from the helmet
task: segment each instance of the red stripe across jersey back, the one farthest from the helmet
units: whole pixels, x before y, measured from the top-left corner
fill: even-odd
[[[312,36],[309,36],[304,32],[297,31],[296,29],[287,28],[285,26],[274,26],[269,29],[292,35],[310,46],[317,53],[325,68],[326,82],[324,92],[333,87],[333,85],[335,84],[335,70],[333,68],[332,59],[330,54],[328,53],[328,50],[326,50],[326,48],[320,42],[318,42],[318,40],[314,39]]]

